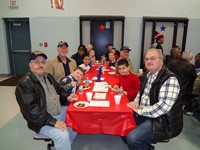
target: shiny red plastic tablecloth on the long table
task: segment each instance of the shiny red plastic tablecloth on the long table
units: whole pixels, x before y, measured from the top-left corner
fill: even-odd
[[[97,76],[97,66],[85,74],[84,79],[91,79]],[[112,70],[110,70],[112,71]],[[110,85],[118,83],[118,78],[115,75],[109,75],[107,71],[102,74],[105,81]],[[90,89],[84,90],[83,94],[78,94],[78,101],[87,101],[86,92],[92,91],[94,83],[90,84]],[[93,96],[94,96],[93,92]],[[122,96],[120,105],[114,102],[114,95],[118,93],[112,92],[110,89],[107,92],[106,100],[110,101],[110,107],[86,107],[76,108],[72,102],[67,109],[67,125],[71,126],[80,134],[112,134],[126,136],[132,129],[136,127],[133,118],[133,110],[128,108],[126,104],[128,99],[126,95]]]

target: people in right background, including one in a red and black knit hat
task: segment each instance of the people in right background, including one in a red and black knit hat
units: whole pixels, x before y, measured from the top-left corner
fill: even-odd
[[[164,35],[155,31],[155,43],[152,48],[160,49],[164,55],[162,44],[164,43]],[[192,107],[193,98],[197,97],[200,101],[200,53],[195,56],[195,64],[191,63],[193,59],[192,52],[189,50],[182,51],[178,45],[172,47],[170,55],[166,55],[164,59],[165,66],[175,73],[180,81],[181,93],[183,94],[184,112],[193,115]],[[200,104],[199,104],[200,105]],[[197,107],[199,108],[199,107]]]

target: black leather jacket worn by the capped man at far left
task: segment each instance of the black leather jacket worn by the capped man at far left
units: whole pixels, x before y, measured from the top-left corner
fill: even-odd
[[[60,88],[52,75],[47,74],[47,79],[53,84],[57,94],[60,95],[61,104],[64,104],[67,101],[67,95],[62,93],[63,89]],[[39,132],[45,125],[55,125],[56,119],[47,112],[44,89],[33,72],[28,71],[19,81],[15,95],[29,129]]]

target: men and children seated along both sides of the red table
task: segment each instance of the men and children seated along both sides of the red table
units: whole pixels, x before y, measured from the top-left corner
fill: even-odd
[[[91,44],[87,48],[80,45],[71,58],[67,57],[68,47],[67,42],[60,41],[58,55],[49,61],[43,52],[34,51],[30,70],[19,81],[15,92],[28,127],[50,137],[57,150],[71,149],[77,133],[66,126],[67,105],[77,100],[75,91],[82,77],[89,71],[89,64],[96,63]],[[181,82],[165,67],[162,51],[151,48],[145,52],[147,72],[143,74],[134,73],[128,46],[123,46],[120,52],[111,44],[107,49],[104,58],[119,78],[112,90],[123,87],[130,101],[127,106],[135,112],[137,127],[126,137],[129,149],[148,150],[151,143],[177,136],[183,127]]]

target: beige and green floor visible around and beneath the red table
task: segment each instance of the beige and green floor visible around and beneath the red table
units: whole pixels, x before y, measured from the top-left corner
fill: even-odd
[[[0,77],[0,81],[5,78]],[[46,143],[33,140],[19,112],[15,87],[0,86],[0,150],[45,150]],[[184,116],[182,133],[168,143],[158,143],[156,150],[199,150],[200,122],[193,116]],[[72,150],[128,150],[121,138],[112,135],[78,135]]]

